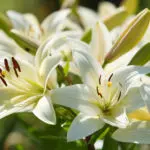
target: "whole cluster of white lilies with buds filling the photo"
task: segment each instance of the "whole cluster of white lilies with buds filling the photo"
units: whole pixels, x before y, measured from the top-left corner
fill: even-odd
[[[55,125],[59,105],[74,114],[68,141],[109,126],[117,141],[150,144],[150,11],[131,15],[127,1],[99,10],[64,3],[41,24],[3,16],[0,118],[32,112]]]

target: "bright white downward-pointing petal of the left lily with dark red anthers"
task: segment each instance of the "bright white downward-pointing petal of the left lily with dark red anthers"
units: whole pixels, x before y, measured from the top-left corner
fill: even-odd
[[[50,96],[43,96],[33,110],[34,115],[47,124],[56,124],[56,115]]]

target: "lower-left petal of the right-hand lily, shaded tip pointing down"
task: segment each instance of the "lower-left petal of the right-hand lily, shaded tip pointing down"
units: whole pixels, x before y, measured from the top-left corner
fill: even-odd
[[[74,141],[98,131],[104,126],[99,118],[79,114],[71,124],[67,134],[67,140]]]

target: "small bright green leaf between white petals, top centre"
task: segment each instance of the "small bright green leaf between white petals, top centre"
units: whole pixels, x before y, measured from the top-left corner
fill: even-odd
[[[81,41],[89,44],[91,42],[91,39],[92,39],[92,30],[88,29],[87,31],[85,31],[85,33],[81,37]]]

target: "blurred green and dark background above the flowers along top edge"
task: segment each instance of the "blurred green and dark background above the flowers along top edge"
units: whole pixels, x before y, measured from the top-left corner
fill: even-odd
[[[43,20],[51,12],[60,8],[61,0],[0,0],[0,12],[16,10],[19,12],[34,13],[40,20]],[[94,10],[99,2],[104,0],[80,0],[80,4]],[[122,0],[107,0],[119,5]],[[132,0],[131,0],[132,1]],[[150,0],[139,0],[139,10],[150,8]]]

